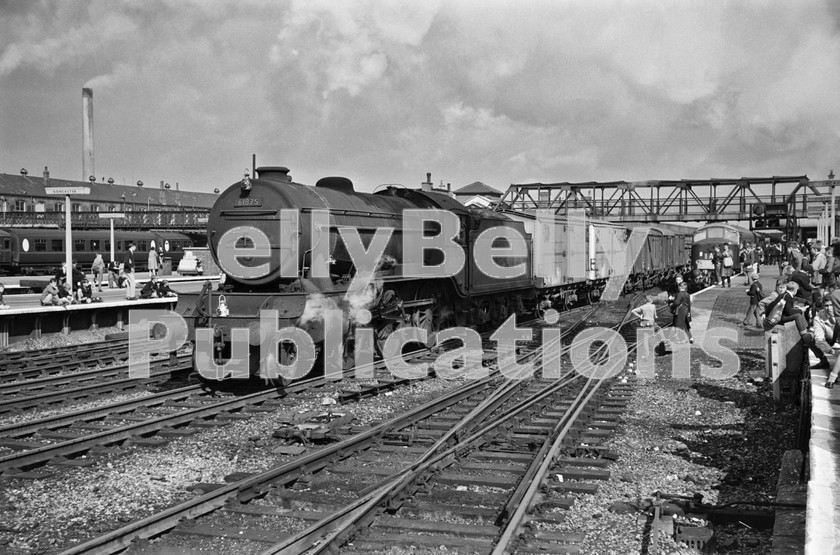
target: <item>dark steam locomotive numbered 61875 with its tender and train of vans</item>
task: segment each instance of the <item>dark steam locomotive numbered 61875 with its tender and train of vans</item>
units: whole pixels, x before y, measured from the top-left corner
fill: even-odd
[[[512,314],[594,301],[611,274],[629,274],[625,288],[632,288],[687,268],[685,238],[667,230],[632,233],[606,222],[558,221],[548,235],[537,230],[550,244],[535,245],[533,217],[469,209],[441,192],[389,186],[360,193],[343,177],[323,178],[312,187],[293,182],[284,167],[257,168],[257,175],[246,174],[229,187],[210,211],[208,246],[224,285],[212,291],[208,282],[201,293],[181,294],[178,302],[191,340],[196,330],[210,330],[202,337],[212,337],[209,356],[216,361],[231,358],[235,336],[247,334],[252,375],[265,375],[260,318],[267,310],[277,311],[272,326],[304,330],[319,350],[328,310],[340,311],[349,366],[357,326],[373,330],[381,354],[399,328],[423,330],[432,344],[446,328],[488,329]],[[631,237],[639,243],[632,245]],[[553,253],[561,271],[534,260],[535,248]],[[354,258],[379,249],[381,256],[368,264],[375,267],[372,279],[362,280],[365,268],[357,268]],[[611,257],[623,261],[631,251],[640,253],[638,259],[611,266]],[[463,261],[455,270],[446,265],[453,255]],[[497,271],[488,271],[488,260]],[[363,288],[356,287],[356,278]],[[279,353],[273,346],[276,360],[292,363],[296,345],[279,346]]]

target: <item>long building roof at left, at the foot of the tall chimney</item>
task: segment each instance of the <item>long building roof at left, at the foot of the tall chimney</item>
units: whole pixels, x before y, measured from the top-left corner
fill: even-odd
[[[176,191],[174,189],[159,189],[156,187],[138,187],[136,185],[117,185],[111,183],[88,181],[71,181],[53,177],[33,177],[31,175],[15,175],[0,173],[0,195],[3,196],[32,196],[53,197],[47,195],[45,187],[90,187],[89,195],[70,195],[73,200],[87,202],[106,202],[119,204],[127,203],[155,204],[167,206],[182,206],[195,208],[211,208],[216,202],[213,193],[198,193],[195,191]],[[124,198],[123,198],[124,197]],[[57,198],[57,197],[56,197]]]

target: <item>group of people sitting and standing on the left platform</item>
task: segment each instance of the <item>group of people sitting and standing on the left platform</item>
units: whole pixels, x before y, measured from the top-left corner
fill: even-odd
[[[175,297],[176,293],[169,287],[168,280],[158,280],[158,258],[155,249],[149,251],[149,281],[140,291],[136,292],[136,280],[134,277],[134,251],[136,245],[131,243],[123,257],[123,262],[117,264],[111,261],[106,264],[102,254],[96,253],[93,264],[91,264],[91,279],[82,272],[74,260],[70,271],[67,265],[62,264],[61,269],[50,278],[49,284],[41,293],[41,304],[43,306],[68,306],[71,304],[88,304],[102,302],[102,297],[94,295],[94,292],[102,292],[107,276],[109,288],[125,288],[126,299],[156,299],[163,297]],[[69,276],[69,279],[68,279]],[[2,292],[0,292],[0,304],[2,304]]]

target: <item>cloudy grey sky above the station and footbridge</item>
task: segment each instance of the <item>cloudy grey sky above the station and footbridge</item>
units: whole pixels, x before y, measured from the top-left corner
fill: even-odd
[[[840,173],[840,3],[0,0],[0,173],[225,189]]]

